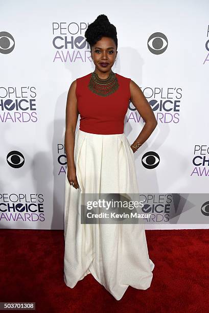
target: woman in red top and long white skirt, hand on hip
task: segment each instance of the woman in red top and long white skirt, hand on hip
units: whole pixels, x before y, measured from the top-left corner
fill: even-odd
[[[64,282],[73,288],[91,273],[120,300],[128,286],[147,289],[154,263],[143,224],[81,223],[81,193],[139,193],[134,155],[157,122],[140,87],[111,70],[117,31],[101,14],[85,32],[95,70],[73,81],[66,104],[67,170],[64,205]],[[132,145],[124,134],[129,100],[145,120]],[[76,130],[80,114],[80,129]]]

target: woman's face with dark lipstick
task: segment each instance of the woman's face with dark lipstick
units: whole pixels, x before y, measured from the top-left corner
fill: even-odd
[[[91,47],[91,58],[95,63],[96,69],[103,73],[111,70],[117,54],[116,44],[114,40],[109,37],[102,37],[101,40],[98,40],[96,44]]]

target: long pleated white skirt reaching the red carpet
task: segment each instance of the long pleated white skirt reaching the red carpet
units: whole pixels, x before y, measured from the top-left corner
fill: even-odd
[[[147,289],[154,263],[141,224],[81,224],[81,193],[137,193],[134,154],[125,133],[98,135],[80,129],[74,158],[79,189],[65,176],[64,282],[73,288],[92,274],[120,300],[128,286]]]

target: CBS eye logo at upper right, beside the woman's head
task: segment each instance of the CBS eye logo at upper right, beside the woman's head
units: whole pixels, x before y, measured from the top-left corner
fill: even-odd
[[[168,48],[168,39],[162,33],[154,33],[148,38],[147,47],[153,54],[162,54]]]

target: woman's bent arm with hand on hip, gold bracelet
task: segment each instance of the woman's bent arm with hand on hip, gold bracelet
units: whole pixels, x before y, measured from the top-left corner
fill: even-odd
[[[138,143],[142,145],[150,137],[151,133],[157,126],[157,121],[149,105],[149,102],[144,96],[141,88],[132,80],[130,80],[130,92],[131,92],[130,98],[131,102],[133,103],[138,113],[145,121],[145,125],[142,131],[140,132],[140,135],[138,135],[138,137],[132,144],[135,147]],[[136,151],[134,147],[131,146],[133,153]]]

